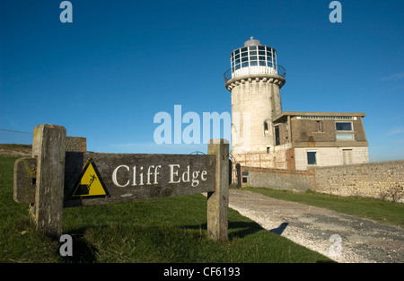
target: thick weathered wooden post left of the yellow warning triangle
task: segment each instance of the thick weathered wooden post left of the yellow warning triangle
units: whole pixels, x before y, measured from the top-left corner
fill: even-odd
[[[43,124],[35,127],[33,135],[32,156],[37,158],[37,177],[31,215],[37,230],[57,237],[63,225],[66,128]]]

